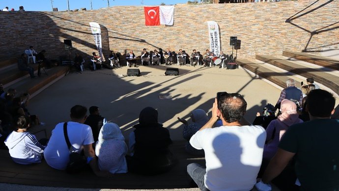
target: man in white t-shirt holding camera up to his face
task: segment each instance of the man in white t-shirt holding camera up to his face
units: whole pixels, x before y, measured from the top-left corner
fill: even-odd
[[[187,172],[202,191],[249,191],[254,187],[266,132],[261,126],[242,122],[246,107],[239,94],[225,94],[219,103],[215,99],[212,118],[192,136],[191,145],[204,149],[206,167],[192,163]],[[212,128],[219,118],[223,126]]]

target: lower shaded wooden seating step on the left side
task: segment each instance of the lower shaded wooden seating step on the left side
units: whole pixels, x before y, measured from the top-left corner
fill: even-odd
[[[14,88],[17,90],[17,95],[28,93],[31,96],[34,96],[47,88],[49,85],[57,81],[59,78],[64,76],[67,72],[68,67],[56,67],[49,70],[46,70],[46,75],[43,71],[41,76],[36,79],[30,79],[29,77],[23,79],[19,82],[14,83],[13,85],[7,88]]]

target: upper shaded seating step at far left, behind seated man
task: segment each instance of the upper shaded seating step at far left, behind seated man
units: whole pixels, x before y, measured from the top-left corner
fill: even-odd
[[[30,65],[34,68],[34,71],[36,72],[38,70],[38,65]],[[15,83],[18,79],[23,78],[24,76],[28,76],[29,74],[27,71],[19,71],[17,63],[7,65],[5,69],[0,71],[1,76],[1,83],[4,85],[4,87],[9,86],[10,84]]]

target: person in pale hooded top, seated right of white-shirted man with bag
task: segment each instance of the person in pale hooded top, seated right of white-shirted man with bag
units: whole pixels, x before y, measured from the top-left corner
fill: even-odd
[[[115,123],[106,123],[102,126],[95,146],[98,157],[98,166],[102,171],[111,173],[126,173],[127,163],[125,155],[128,148],[119,126]]]

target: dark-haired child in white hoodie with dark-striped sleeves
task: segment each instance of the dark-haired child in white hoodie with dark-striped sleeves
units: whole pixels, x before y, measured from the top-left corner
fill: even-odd
[[[45,146],[27,131],[30,127],[30,119],[27,116],[18,116],[14,125],[17,130],[9,134],[4,142],[12,160],[22,165],[41,163]]]

